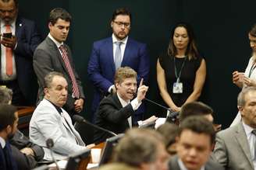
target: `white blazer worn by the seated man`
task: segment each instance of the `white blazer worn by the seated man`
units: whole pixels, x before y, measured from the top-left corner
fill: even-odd
[[[67,158],[69,154],[85,149],[84,141],[73,127],[69,114],[64,109],[62,114],[59,114],[51,102],[43,99],[30,120],[30,141],[44,148],[44,159],[52,160],[45,142],[48,138],[52,138],[54,142],[52,149],[56,160]]]

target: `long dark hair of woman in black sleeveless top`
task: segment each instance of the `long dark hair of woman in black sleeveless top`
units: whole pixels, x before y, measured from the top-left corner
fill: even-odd
[[[174,36],[175,29],[177,27],[183,27],[184,29],[187,30],[189,42],[187,44],[187,50],[186,50],[185,55],[187,55],[189,60],[196,59],[199,56],[199,53],[198,53],[197,46],[195,43],[194,31],[192,29],[192,26],[190,26],[188,23],[178,23],[178,24],[176,24],[176,26],[173,27],[170,42],[169,42],[169,47],[168,47],[168,55],[175,57],[177,54],[176,47],[173,43],[173,36]]]

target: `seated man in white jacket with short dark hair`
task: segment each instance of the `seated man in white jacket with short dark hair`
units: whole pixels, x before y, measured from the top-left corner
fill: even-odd
[[[71,118],[62,106],[66,103],[68,84],[61,73],[50,72],[44,78],[44,99],[34,110],[30,120],[30,140],[44,147],[44,159],[52,160],[45,141],[52,138],[53,156],[56,160],[66,158],[81,149],[84,141],[73,127]]]

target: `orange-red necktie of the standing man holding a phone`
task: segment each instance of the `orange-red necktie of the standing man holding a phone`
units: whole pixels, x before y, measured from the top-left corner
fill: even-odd
[[[5,32],[12,33],[10,25],[5,25]],[[9,47],[5,47],[5,71],[6,75],[12,75],[12,48]]]

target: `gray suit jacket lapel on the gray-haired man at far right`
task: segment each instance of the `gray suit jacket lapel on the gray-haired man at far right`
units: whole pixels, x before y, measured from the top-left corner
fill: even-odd
[[[254,165],[251,161],[251,152],[250,152],[249,144],[247,141],[247,136],[245,134],[242,123],[240,123],[239,126],[237,126],[235,137],[238,143],[240,144],[240,147],[244,151],[244,154],[246,155],[247,160],[250,162],[251,167],[254,168]]]

